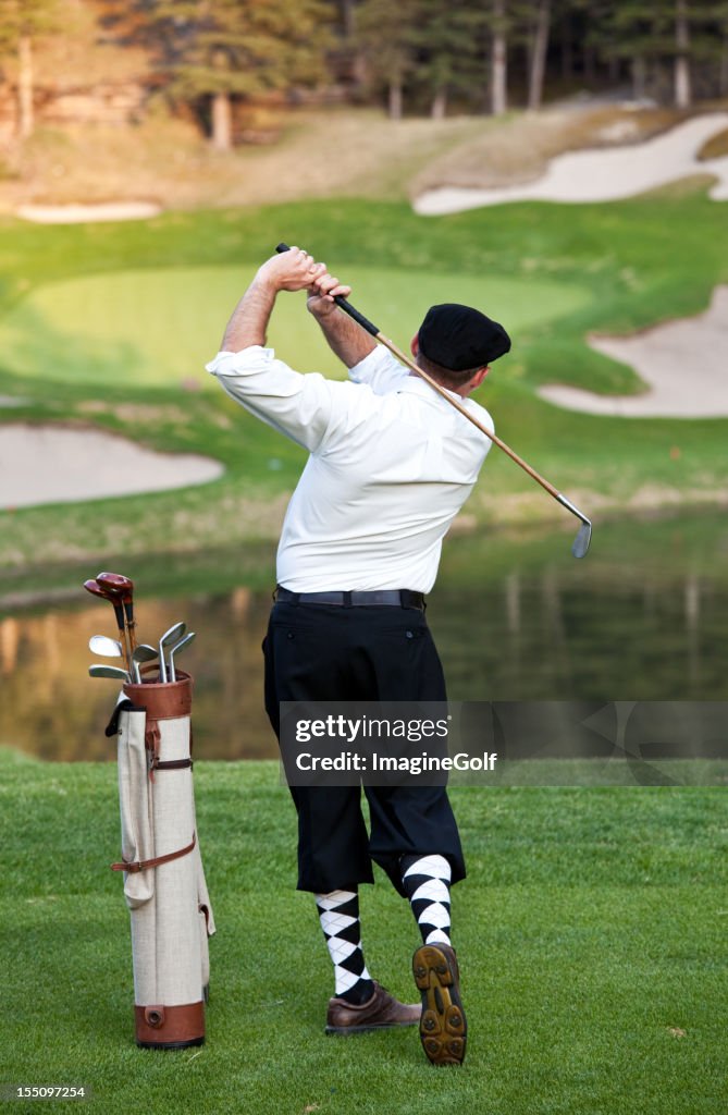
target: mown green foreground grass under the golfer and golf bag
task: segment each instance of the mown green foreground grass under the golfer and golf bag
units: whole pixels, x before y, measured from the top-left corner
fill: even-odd
[[[322,1032],[331,971],[294,885],[274,764],[207,764],[200,833],[217,937],[202,1050],[134,1046],[113,764],[0,758],[2,1080],[85,1083],[109,1115],[722,1115],[726,823],[718,789],[453,791],[470,1044],[431,1069],[411,1032]],[[411,997],[411,915],[362,891],[369,967]],[[35,1106],[18,1104],[14,1111]]]

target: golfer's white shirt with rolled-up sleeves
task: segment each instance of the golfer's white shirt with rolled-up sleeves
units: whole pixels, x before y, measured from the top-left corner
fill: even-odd
[[[283,523],[279,584],[429,592],[489,439],[381,347],[348,382],[300,375],[260,346],[219,352],[206,367],[236,403],[310,453]],[[487,410],[465,406],[493,429]]]

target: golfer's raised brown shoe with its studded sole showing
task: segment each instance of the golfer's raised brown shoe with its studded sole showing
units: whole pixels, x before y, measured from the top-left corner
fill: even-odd
[[[433,1065],[462,1065],[467,1024],[460,1002],[460,973],[452,944],[423,944],[412,957],[423,997],[419,1039]]]

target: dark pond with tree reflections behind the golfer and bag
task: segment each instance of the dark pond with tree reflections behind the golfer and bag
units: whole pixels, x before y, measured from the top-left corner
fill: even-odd
[[[724,513],[601,524],[581,562],[570,544],[561,531],[446,541],[427,614],[453,700],[728,699]],[[140,641],[177,620],[197,632],[179,661],[197,756],[275,757],[261,655],[274,546],[261,543],[0,578],[0,746],[115,758],[104,727],[118,687],[87,673],[100,661],[89,637],[116,634],[81,589],[101,565],[134,579]]]

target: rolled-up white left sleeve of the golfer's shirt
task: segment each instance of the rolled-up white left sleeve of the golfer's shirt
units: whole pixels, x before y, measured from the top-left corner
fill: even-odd
[[[273,349],[259,345],[219,352],[205,365],[235,403],[310,453],[320,448],[336,406],[331,385],[317,372],[302,376]]]

